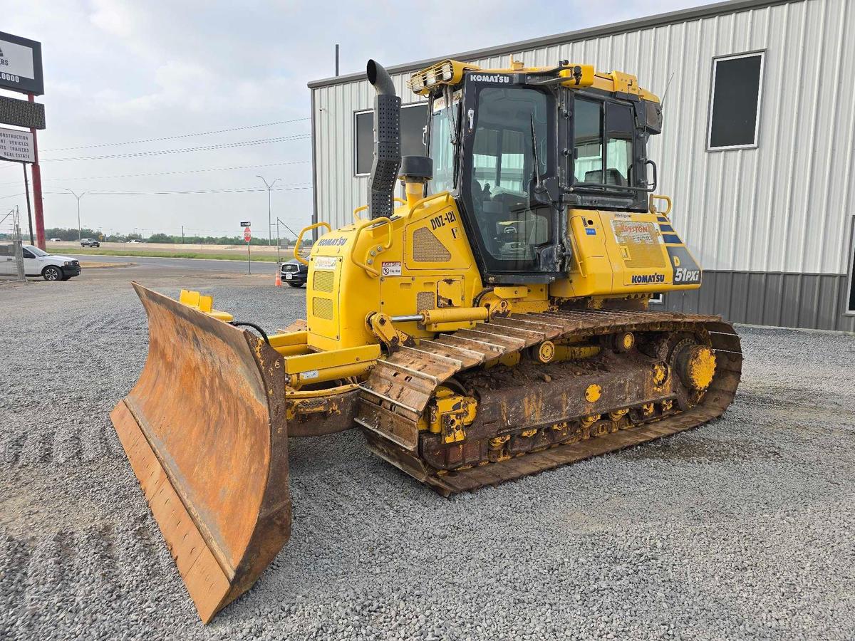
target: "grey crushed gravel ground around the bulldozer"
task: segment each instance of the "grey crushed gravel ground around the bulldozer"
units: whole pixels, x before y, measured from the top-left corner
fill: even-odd
[[[357,432],[292,440],[292,540],[202,626],[109,422],[146,352],[132,277],[304,310],[267,276],[0,285],[0,638],[855,638],[855,338],[748,327],[722,420],[475,494]]]

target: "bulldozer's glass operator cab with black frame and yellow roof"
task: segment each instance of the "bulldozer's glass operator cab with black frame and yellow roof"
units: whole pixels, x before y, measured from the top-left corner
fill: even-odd
[[[567,268],[568,209],[647,211],[661,111],[632,76],[511,66],[445,61],[410,87],[430,100],[428,190],[456,197],[486,282],[548,283]],[[629,91],[614,91],[618,79]]]

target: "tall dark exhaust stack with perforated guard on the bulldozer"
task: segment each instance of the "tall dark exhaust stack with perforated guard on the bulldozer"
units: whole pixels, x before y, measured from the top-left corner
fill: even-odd
[[[369,60],[366,68],[374,97],[374,162],[369,176],[371,218],[392,215],[395,181],[401,166],[401,99],[386,69]]]

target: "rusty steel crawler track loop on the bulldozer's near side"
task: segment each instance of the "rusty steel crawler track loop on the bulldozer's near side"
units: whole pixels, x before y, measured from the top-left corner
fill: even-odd
[[[444,470],[432,468],[420,451],[418,421],[436,388],[486,362],[526,350],[545,340],[597,337],[616,332],[695,332],[708,337],[716,354],[716,374],[699,404],[596,435],[551,444],[499,462]],[[439,334],[402,348],[377,363],[362,387],[357,423],[374,453],[448,496],[485,485],[557,468],[592,456],[663,438],[722,415],[740,381],[740,339],[717,316],[640,310],[562,310],[513,314],[471,330]]]

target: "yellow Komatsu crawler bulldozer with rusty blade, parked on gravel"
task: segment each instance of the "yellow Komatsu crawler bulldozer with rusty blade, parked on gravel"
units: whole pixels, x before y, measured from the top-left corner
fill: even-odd
[[[740,380],[732,326],[648,306],[701,269],[655,195],[662,109],[634,76],[439,62],[409,83],[430,157],[402,159],[400,98],[367,75],[369,203],[301,232],[325,228],[295,252],[305,321],[264,332],[134,284],[149,356],[111,416],[205,622],[289,537],[289,437],[357,427],[448,496],[699,426]]]

